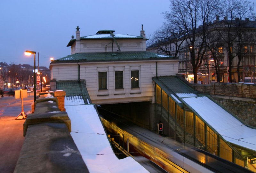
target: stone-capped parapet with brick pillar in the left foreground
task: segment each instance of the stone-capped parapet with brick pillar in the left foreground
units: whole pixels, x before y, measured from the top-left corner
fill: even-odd
[[[54,95],[63,96],[64,91],[57,92]],[[34,114],[29,114],[23,125],[25,140],[14,173],[89,172],[70,135],[68,114],[59,109],[59,102],[64,107],[64,99],[39,96]]]

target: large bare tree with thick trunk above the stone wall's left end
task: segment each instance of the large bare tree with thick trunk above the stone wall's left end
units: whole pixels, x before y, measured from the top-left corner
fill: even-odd
[[[170,0],[170,11],[165,12],[165,19],[175,23],[190,47],[194,83],[197,83],[197,71],[201,66],[206,51],[205,41],[209,22],[216,15],[219,0]],[[200,25],[200,27],[199,27]]]

